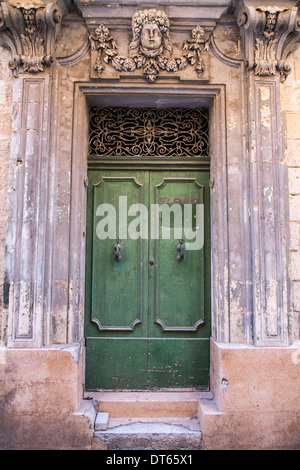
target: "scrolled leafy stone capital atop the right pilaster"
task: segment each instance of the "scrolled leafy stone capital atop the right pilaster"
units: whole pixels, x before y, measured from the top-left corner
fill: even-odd
[[[299,18],[296,7],[253,7],[247,4],[238,13],[238,25],[244,39],[248,70],[255,75],[279,73],[284,80],[290,73],[287,56],[299,44]]]

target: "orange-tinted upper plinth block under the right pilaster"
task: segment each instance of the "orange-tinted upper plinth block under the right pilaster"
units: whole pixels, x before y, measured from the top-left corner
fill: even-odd
[[[293,412],[300,408],[299,348],[211,343],[213,392],[221,411]]]

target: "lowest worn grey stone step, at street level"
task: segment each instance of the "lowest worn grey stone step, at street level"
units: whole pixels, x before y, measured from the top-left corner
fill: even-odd
[[[107,450],[200,450],[202,446],[196,418],[109,418],[108,428],[95,431],[95,439]]]

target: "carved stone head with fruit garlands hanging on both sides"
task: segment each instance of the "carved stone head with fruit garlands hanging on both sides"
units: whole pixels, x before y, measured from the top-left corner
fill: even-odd
[[[94,70],[98,77],[105,68],[111,65],[118,71],[133,72],[143,68],[144,75],[150,83],[156,80],[159,70],[176,72],[188,64],[196,64],[198,77],[204,72],[202,54],[209,48],[209,37],[200,26],[191,32],[192,39],[183,45],[182,57],[171,57],[172,46],[169,36],[170,22],[164,11],[155,9],[138,11],[132,18],[133,38],[129,45],[130,56],[118,55],[117,44],[110,36],[106,26],[99,25],[90,34],[91,49],[98,51]]]

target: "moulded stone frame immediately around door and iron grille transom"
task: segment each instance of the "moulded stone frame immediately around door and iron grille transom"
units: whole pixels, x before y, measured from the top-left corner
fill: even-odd
[[[76,327],[78,318],[74,313],[78,309],[84,312],[85,243],[86,227],[86,184],[88,155],[89,106],[122,106],[123,103],[135,107],[147,106],[150,100],[163,99],[164,107],[209,106],[210,110],[210,155],[211,155],[211,296],[212,296],[212,336],[220,341],[228,341],[229,324],[228,283],[226,272],[228,264],[228,220],[224,217],[224,201],[227,201],[227,150],[225,126],[225,87],[215,85],[130,85],[130,84],[75,84],[74,119],[73,119],[73,153],[71,170],[71,214],[70,214],[70,278],[74,285],[81,285],[82,298],[78,295],[70,298],[77,303],[77,308],[69,305],[69,329]],[[223,201],[223,202],[222,202]],[[227,204],[225,204],[227,207]],[[72,287],[72,286],[70,286]],[[69,289],[72,292],[72,289]],[[218,312],[222,312],[219,318]],[[79,338],[84,337],[83,315],[79,326]],[[70,331],[71,333],[71,331]]]

